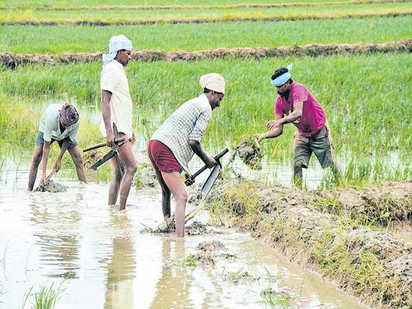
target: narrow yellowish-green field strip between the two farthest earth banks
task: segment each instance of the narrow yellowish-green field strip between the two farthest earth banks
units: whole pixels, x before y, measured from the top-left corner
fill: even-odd
[[[339,18],[351,15],[411,13],[411,3],[323,5],[291,8],[216,10],[2,10],[0,23],[145,23],[191,20]]]

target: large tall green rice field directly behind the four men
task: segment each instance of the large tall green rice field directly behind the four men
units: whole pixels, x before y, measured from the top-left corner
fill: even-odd
[[[126,73],[136,106],[135,129],[148,141],[165,117],[201,93],[198,78],[207,71],[216,71],[226,78],[227,93],[208,126],[206,144],[221,147],[228,139],[236,143],[245,133],[264,131],[266,122],[273,119],[277,96],[270,85],[271,74],[289,62],[295,66],[293,79],[306,84],[324,106],[339,152],[370,157],[374,153],[388,155],[397,149],[409,156],[412,124],[405,115],[412,115],[409,100],[412,90],[411,87],[397,87],[399,80],[404,84],[412,82],[412,71],[404,69],[412,66],[408,54],[191,63],[131,62]],[[18,96],[21,100],[26,98],[27,102],[40,95],[67,93],[76,98],[78,104],[94,104],[100,101],[100,71],[100,63],[20,67],[3,73],[0,89],[8,98]],[[100,134],[97,125],[95,130]],[[292,126],[288,126],[283,137],[265,143],[268,148],[282,141],[286,143],[283,152],[275,154],[275,158],[290,157],[293,132]]]

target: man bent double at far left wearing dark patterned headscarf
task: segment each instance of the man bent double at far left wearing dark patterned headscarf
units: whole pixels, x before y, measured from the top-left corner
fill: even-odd
[[[29,190],[33,190],[34,181],[36,181],[38,165],[40,161],[43,165],[43,173],[41,175],[40,184],[47,185],[46,171],[47,161],[49,160],[50,145],[57,141],[60,146],[60,155],[56,159],[54,169],[56,172],[62,167],[62,157],[65,151],[69,151],[71,159],[76,165],[76,172],[79,181],[86,182],[84,176],[83,158],[79,146],[76,141],[76,136],[79,129],[79,113],[76,108],[69,103],[52,104],[47,107],[40,119],[40,128],[36,144],[34,146],[34,155],[32,165],[29,172]]]

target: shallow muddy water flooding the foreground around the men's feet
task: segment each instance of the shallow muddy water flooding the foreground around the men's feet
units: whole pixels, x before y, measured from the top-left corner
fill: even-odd
[[[69,191],[51,194],[27,192],[26,172],[9,176],[17,181],[0,186],[3,308],[19,308],[32,286],[34,292],[60,282],[65,290],[56,308],[266,308],[276,301],[293,308],[362,308],[247,234],[217,229],[176,241],[140,233],[161,222],[156,189],[133,188],[126,211],[119,212],[106,205],[108,184],[59,181]],[[204,222],[207,214],[198,218]],[[204,240],[225,246],[213,253],[216,266],[185,266]],[[265,289],[276,293],[265,298]],[[30,301],[33,295],[26,308]]]

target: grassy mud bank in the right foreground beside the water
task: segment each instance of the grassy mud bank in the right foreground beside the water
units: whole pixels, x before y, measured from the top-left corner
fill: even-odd
[[[229,181],[220,183],[208,207],[211,216],[225,216],[227,224],[250,231],[364,304],[411,308],[412,246],[356,218],[356,212],[387,205],[385,201],[412,209],[411,187],[411,182],[392,182],[369,191],[304,192],[280,184]],[[347,212],[328,213],[330,199],[320,198],[323,195],[337,196]],[[398,210],[387,211],[409,224],[409,217],[399,216]]]

